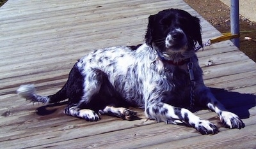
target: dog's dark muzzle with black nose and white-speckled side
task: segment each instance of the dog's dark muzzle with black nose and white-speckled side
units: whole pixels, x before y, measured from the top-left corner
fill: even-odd
[[[170,31],[165,39],[165,46],[168,50],[185,50],[188,39],[182,29],[173,29]]]

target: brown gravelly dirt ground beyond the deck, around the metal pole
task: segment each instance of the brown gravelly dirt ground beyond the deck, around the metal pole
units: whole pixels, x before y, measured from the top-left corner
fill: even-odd
[[[0,7],[7,0],[0,0]],[[220,0],[184,0],[202,17],[220,32],[230,32],[230,8]],[[256,62],[256,41],[244,40],[244,37],[256,38],[256,23],[240,17],[240,50]],[[253,32],[250,32],[253,31]]]

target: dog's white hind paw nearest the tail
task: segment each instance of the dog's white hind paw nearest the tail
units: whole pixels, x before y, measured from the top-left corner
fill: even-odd
[[[86,121],[95,122],[100,120],[99,115],[93,110],[83,109],[79,110],[79,117],[84,118]]]

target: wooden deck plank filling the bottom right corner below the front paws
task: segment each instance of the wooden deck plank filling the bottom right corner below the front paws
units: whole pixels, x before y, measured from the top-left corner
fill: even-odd
[[[144,148],[255,148],[256,125],[250,125],[243,131],[225,131],[213,136],[198,136],[196,138],[178,139],[167,143],[146,146]],[[234,138],[234,134],[239,134]]]

